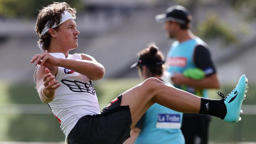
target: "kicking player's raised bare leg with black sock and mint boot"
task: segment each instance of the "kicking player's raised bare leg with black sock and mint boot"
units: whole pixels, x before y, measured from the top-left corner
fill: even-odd
[[[200,113],[217,116],[225,122],[241,120],[241,105],[248,90],[247,78],[241,76],[236,87],[223,99],[210,100],[200,98],[184,90],[165,85],[156,78],[148,78],[136,87],[122,93],[121,105],[129,105],[132,116],[131,128],[154,103],[182,113]],[[218,93],[219,94],[219,93]]]

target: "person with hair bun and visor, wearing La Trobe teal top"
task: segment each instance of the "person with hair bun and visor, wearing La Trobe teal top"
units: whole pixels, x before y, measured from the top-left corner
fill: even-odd
[[[155,44],[139,52],[136,67],[141,80],[154,77],[163,81],[164,56]],[[170,83],[163,81],[173,87]],[[131,137],[124,144],[185,144],[180,130],[183,113],[173,111],[155,103],[131,130]]]

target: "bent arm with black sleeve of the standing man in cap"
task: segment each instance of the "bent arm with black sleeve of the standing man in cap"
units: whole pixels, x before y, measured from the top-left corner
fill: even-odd
[[[190,85],[199,89],[219,89],[219,79],[216,74],[215,66],[211,61],[210,52],[202,45],[195,48],[194,53],[195,65],[204,71],[205,78],[201,80],[194,80],[185,78],[182,74],[175,73],[171,80],[176,85]]]

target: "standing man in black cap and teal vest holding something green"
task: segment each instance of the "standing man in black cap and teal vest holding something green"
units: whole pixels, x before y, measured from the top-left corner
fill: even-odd
[[[171,6],[156,16],[157,22],[164,23],[167,37],[176,39],[166,57],[169,80],[176,88],[207,98],[206,89],[218,89],[220,84],[208,45],[189,29],[191,20],[183,6]],[[198,70],[203,72],[200,79],[196,79]],[[186,144],[207,144],[209,122],[206,115],[184,114],[181,129]]]

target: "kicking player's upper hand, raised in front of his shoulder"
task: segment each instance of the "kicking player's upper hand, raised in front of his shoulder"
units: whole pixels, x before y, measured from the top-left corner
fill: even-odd
[[[41,65],[45,67],[57,66],[58,58],[48,54],[48,52],[44,52],[42,54],[34,55],[30,63],[34,63],[35,65]]]

